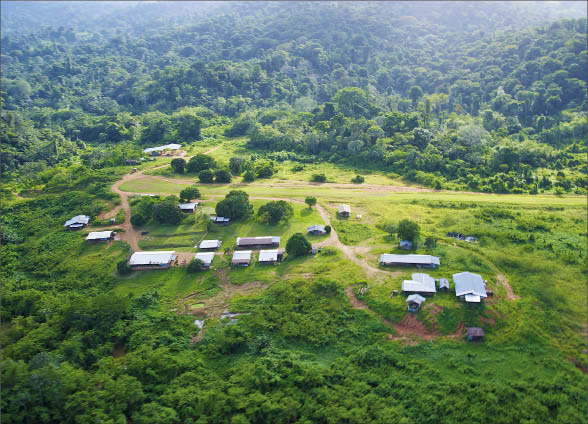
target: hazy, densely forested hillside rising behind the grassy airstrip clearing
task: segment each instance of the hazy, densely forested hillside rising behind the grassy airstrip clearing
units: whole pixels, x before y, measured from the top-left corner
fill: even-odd
[[[355,157],[425,185],[536,192],[556,182],[539,169],[556,167],[570,168],[562,189],[584,190],[586,19],[570,18],[585,4],[230,5],[165,6],[157,26],[160,3],[9,31],[3,174],[55,163],[60,145],[65,158],[88,143],[193,141],[179,122],[218,115],[251,147]]]

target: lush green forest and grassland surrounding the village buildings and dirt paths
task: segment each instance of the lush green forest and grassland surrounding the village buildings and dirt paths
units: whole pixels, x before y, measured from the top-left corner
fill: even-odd
[[[585,3],[1,8],[3,422],[586,421],[586,204],[578,202],[588,189]],[[446,309],[424,325],[447,325],[443,335],[459,321],[494,322],[476,352],[451,337],[391,340],[390,322],[406,310],[389,298],[394,277],[372,287],[370,274],[332,247],[316,263],[288,258],[278,266],[286,273],[174,267],[121,275],[128,244],[87,245],[63,223],[82,213],[101,228],[128,220],[111,186],[130,171],[126,160],[168,143],[199,155],[174,159],[169,171],[149,171],[148,160],[138,166],[183,180],[123,190],[178,195],[196,185],[192,196],[214,204],[231,189],[222,184],[265,184],[280,172],[294,179],[312,166],[319,173],[311,190],[345,169],[357,174],[357,187],[362,175],[377,175],[451,193],[457,200],[398,197],[394,218],[437,214],[423,218],[423,239],[477,231],[476,252],[506,271],[519,303],[476,310],[452,309],[449,296],[439,301]],[[214,146],[216,162],[203,155]],[[255,212],[236,213],[244,223],[235,225],[297,234],[289,221],[305,229],[321,219],[317,199],[293,208],[278,199],[284,192],[260,187],[252,196],[276,199],[261,205],[252,197]],[[377,198],[308,190],[287,197],[301,203],[312,194],[322,207],[351,199],[381,215],[333,224],[343,244],[373,242],[373,255],[390,249],[390,217]],[[321,193],[333,197],[321,203]],[[485,204],[468,197],[481,193]],[[156,232],[141,210],[165,202],[174,209],[175,201],[131,199],[133,225]],[[110,210],[118,213],[109,221]],[[207,216],[176,218],[165,227],[176,238],[188,237],[188,227],[219,231]],[[458,264],[496,272],[449,242],[426,249],[456,272]],[[206,304],[229,286],[254,283],[264,289],[228,298],[245,313],[212,319],[201,339],[194,316],[174,307],[177,293]],[[370,287],[352,293],[361,308],[349,302],[352,286]]]

